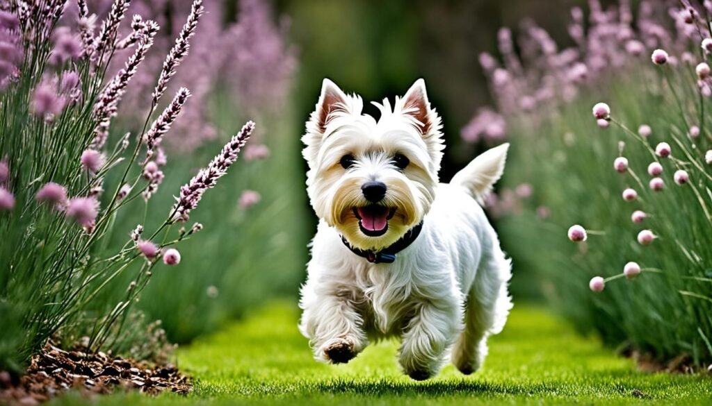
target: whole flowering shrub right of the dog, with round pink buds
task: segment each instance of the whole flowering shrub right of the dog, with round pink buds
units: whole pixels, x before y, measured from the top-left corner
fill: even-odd
[[[572,48],[528,22],[520,54],[504,29],[503,63],[481,56],[513,144],[506,182],[532,186],[519,214],[500,220],[502,237],[520,278],[533,272],[582,330],[706,365],[712,2],[641,1],[636,18],[629,1],[589,6],[572,10]]]

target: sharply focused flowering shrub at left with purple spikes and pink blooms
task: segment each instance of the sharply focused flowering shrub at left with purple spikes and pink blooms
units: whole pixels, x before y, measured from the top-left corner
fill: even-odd
[[[8,49],[0,53],[0,369],[21,368],[54,335],[86,332],[92,350],[115,342],[156,265],[180,262],[171,246],[202,227],[182,224],[254,128],[245,124],[173,192],[176,203],[162,209],[155,228],[117,222],[121,213],[146,206],[164,180],[162,138],[191,93],[179,88],[159,106],[204,6],[192,1],[143,104],[142,126],[120,137],[112,135],[112,121],[159,25],[135,15],[123,33],[128,0],[112,1],[97,28],[86,1],[75,8],[72,18],[65,1],[0,2],[0,46]],[[122,68],[107,75],[122,49],[128,51]],[[122,240],[118,247],[112,238]],[[117,286],[125,275],[130,283]],[[119,300],[97,302],[115,289]]]

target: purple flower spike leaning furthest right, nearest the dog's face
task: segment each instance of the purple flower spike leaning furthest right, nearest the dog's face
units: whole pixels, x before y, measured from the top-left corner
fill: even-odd
[[[189,183],[180,188],[180,195],[176,198],[177,202],[173,207],[174,220],[181,222],[188,220],[190,211],[197,208],[203,193],[213,188],[217,180],[224,176],[236,161],[240,149],[250,138],[254,128],[255,123],[247,122],[205,169],[201,169]]]

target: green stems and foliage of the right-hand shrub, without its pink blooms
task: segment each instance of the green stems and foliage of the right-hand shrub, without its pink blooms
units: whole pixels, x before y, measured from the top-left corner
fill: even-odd
[[[698,97],[692,77],[690,65],[643,67],[599,87],[608,91],[557,107],[535,129],[531,123],[541,117],[522,117],[513,129],[506,183],[530,182],[535,194],[525,213],[502,220],[499,229],[515,258],[515,279],[538,284],[580,330],[598,331],[612,346],[659,361],[686,354],[708,365],[712,170],[704,155],[712,137],[708,124],[700,124],[698,139],[687,135],[693,124],[710,122],[703,119],[709,102]],[[591,115],[600,101],[612,109],[607,129],[599,129]],[[641,124],[653,129],[648,139],[637,134]],[[661,141],[671,145],[671,158],[654,155]],[[613,169],[619,154],[629,160],[627,173]],[[664,166],[664,191],[649,188],[651,161]],[[689,183],[674,182],[678,169],[689,172]],[[639,199],[624,201],[624,188],[634,188]],[[537,205],[548,207],[550,217],[538,218]],[[634,210],[648,217],[633,223]],[[589,233],[577,245],[567,240],[573,224],[602,235]],[[637,242],[643,229],[658,236],[651,245]],[[609,280],[600,294],[590,291],[592,277],[620,277],[629,261],[644,269],[639,277]]]

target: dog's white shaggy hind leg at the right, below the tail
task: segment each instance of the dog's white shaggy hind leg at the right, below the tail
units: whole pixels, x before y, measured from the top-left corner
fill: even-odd
[[[498,241],[486,251],[469,292],[465,309],[465,328],[453,347],[452,361],[461,373],[478,370],[487,356],[487,338],[502,331],[512,300],[507,290],[511,262]]]

